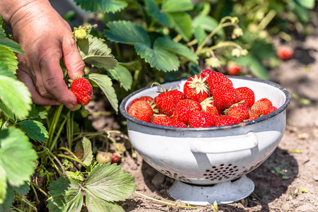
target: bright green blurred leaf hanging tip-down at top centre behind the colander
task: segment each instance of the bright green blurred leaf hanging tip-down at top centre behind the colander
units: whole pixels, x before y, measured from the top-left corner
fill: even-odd
[[[183,37],[183,40],[188,42],[192,37],[191,17],[189,14],[184,12],[171,13],[171,17],[174,19],[177,33]]]

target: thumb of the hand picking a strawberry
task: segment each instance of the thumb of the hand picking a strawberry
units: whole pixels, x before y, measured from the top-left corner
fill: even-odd
[[[63,61],[69,78],[74,79],[76,76],[84,76],[85,63],[81,59],[76,41],[68,37],[62,44]]]

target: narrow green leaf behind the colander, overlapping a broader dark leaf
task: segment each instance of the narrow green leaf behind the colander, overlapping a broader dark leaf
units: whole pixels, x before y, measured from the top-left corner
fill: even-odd
[[[186,57],[190,61],[198,63],[198,56],[194,52],[192,52],[191,49],[179,42],[174,42],[173,40],[166,37],[158,37],[157,40],[154,42],[154,48],[166,49],[169,52],[174,52],[175,54]]]

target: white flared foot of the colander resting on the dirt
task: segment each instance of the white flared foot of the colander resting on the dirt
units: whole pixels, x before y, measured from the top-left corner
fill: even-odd
[[[230,204],[244,199],[254,191],[254,182],[242,176],[234,182],[221,182],[212,187],[191,185],[176,180],[169,189],[169,195],[173,199],[180,199],[182,202],[195,206],[213,204]]]

